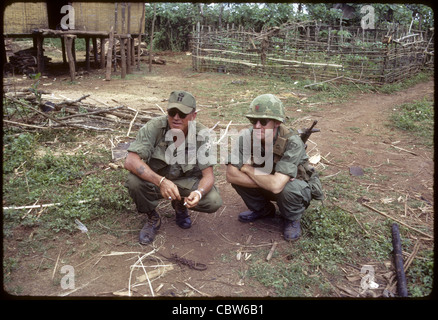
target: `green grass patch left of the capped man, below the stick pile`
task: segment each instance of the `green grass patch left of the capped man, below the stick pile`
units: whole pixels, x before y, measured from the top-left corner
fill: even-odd
[[[60,141],[72,142],[72,135],[61,136],[57,143],[44,146],[43,141],[49,138],[46,133],[5,133],[4,206],[61,204],[46,208],[40,217],[30,214],[25,219],[26,210],[4,210],[5,230],[25,225],[51,232],[72,231],[75,219],[87,222],[118,212],[130,203],[123,187],[124,172],[100,169],[110,159],[105,150],[69,154],[62,150],[65,143]]]

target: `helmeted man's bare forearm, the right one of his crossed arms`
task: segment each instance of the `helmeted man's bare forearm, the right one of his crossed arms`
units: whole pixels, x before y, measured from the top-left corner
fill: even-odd
[[[264,174],[263,172],[258,171],[257,168],[248,164],[244,164],[240,171],[253,180],[258,187],[275,194],[283,191],[284,186],[290,180],[290,177],[283,173],[276,172],[274,174]]]

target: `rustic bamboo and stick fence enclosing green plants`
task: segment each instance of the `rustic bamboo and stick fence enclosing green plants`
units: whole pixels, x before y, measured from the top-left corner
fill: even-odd
[[[190,43],[198,72],[383,84],[433,68],[433,42],[433,29],[364,30],[307,21],[262,32],[198,24]]]

